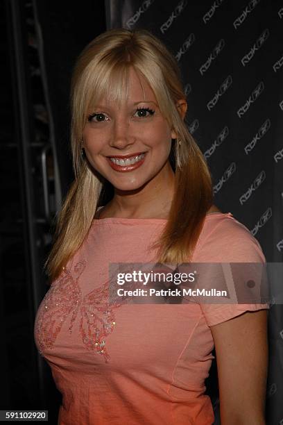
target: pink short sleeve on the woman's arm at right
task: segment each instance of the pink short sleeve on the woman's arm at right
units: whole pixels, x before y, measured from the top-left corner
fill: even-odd
[[[260,263],[266,259],[259,242],[251,235],[246,226],[234,217],[225,215],[214,219],[204,227],[202,243],[194,254],[198,263]],[[244,279],[244,274],[240,278]],[[241,285],[245,281],[239,282]],[[260,300],[262,301],[262,300]],[[214,326],[237,317],[246,311],[268,309],[268,299],[264,303],[200,303],[208,326]]]

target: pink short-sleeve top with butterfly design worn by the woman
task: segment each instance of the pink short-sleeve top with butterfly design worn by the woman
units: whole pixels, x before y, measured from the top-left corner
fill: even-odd
[[[205,378],[210,326],[260,304],[111,304],[110,263],[151,262],[165,219],[94,219],[87,238],[46,293],[37,349],[62,393],[60,425],[210,425]],[[196,263],[264,263],[259,243],[232,214],[205,218]]]

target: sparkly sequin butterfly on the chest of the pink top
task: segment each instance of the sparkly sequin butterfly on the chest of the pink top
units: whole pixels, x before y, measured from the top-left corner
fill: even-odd
[[[45,294],[35,319],[39,351],[42,354],[44,349],[53,349],[62,324],[66,321],[71,335],[74,321],[79,315],[79,332],[85,348],[101,354],[105,363],[108,363],[110,355],[105,347],[105,338],[116,325],[114,309],[121,304],[110,306],[108,303],[108,281],[82,296],[78,279],[85,267],[86,262],[83,260],[76,263],[71,272],[63,269]]]

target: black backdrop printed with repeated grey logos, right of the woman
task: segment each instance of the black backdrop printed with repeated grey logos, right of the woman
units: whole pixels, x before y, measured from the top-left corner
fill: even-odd
[[[216,205],[250,229],[268,263],[282,263],[282,1],[108,0],[105,5],[108,28],[146,28],[177,58],[187,124],[212,172]],[[271,306],[269,328],[267,422],[279,424],[282,305]],[[214,365],[207,386],[216,408],[215,370]]]

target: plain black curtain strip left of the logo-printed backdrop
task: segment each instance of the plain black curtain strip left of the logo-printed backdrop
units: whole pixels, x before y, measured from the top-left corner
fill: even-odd
[[[71,73],[83,48],[105,31],[105,8],[103,1],[92,0],[81,3],[33,0],[33,6],[42,49],[42,78],[50,107],[53,153],[58,161],[62,197],[65,197],[74,179],[69,149]]]

